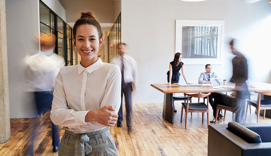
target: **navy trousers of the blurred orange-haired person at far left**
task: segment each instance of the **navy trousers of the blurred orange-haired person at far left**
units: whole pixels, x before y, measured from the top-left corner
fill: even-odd
[[[38,109],[38,114],[41,114],[42,112],[46,110],[51,110],[52,108],[52,101],[53,101],[53,95],[50,94],[50,91],[43,91],[43,92],[35,92],[35,99],[36,99],[36,105]],[[52,124],[52,140],[53,140],[53,146],[57,147],[59,146],[59,136],[58,136],[58,128],[53,122]]]

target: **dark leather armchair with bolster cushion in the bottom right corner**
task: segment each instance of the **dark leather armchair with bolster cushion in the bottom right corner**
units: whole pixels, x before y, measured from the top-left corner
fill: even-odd
[[[271,155],[271,124],[209,125],[208,156]]]

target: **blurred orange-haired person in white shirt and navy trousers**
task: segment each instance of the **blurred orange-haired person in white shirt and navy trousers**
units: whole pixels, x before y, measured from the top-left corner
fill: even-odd
[[[38,39],[38,38],[37,38]],[[40,34],[41,52],[26,58],[27,63],[27,88],[28,91],[34,93],[37,115],[52,107],[53,95],[52,91],[55,87],[55,77],[61,67],[65,65],[63,57],[54,53],[56,37],[53,34]],[[33,142],[35,140],[36,123],[33,137],[31,138],[31,146],[27,151],[27,155],[33,155]],[[58,128],[52,123],[52,140],[53,152],[58,152],[59,136]]]

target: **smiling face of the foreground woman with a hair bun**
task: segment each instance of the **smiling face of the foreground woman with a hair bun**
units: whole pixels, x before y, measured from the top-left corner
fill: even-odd
[[[101,42],[100,42],[101,41]],[[90,24],[83,24],[77,27],[76,38],[73,38],[77,52],[81,60],[97,60],[99,46],[103,38],[99,40],[97,28]]]

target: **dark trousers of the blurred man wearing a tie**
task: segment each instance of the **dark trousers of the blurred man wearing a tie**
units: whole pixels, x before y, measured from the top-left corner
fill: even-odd
[[[120,103],[120,110],[119,110],[119,117],[118,121],[123,121],[123,112],[122,112],[122,97],[125,97],[125,107],[126,107],[126,124],[128,128],[132,127],[132,82],[130,83],[123,83],[121,84],[121,103]]]

